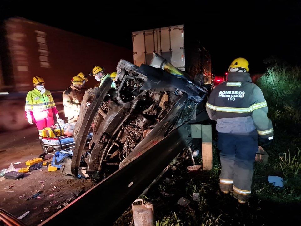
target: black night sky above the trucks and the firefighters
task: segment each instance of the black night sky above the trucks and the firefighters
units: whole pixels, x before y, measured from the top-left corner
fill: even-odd
[[[20,16],[129,49],[132,31],[184,24],[185,37],[189,29],[211,53],[216,74],[236,57],[253,73],[264,72],[270,56],[301,64],[301,1],[63,2],[2,0],[0,19]]]

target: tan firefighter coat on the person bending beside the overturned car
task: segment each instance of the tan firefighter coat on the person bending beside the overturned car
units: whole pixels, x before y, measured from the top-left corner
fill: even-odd
[[[77,119],[84,94],[85,90],[79,90],[73,85],[63,92],[64,111],[68,121],[72,118]]]

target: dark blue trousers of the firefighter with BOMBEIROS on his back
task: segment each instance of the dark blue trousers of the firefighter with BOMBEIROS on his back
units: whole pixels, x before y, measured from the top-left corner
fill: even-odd
[[[221,191],[233,191],[236,199],[247,201],[251,194],[254,161],[258,150],[256,130],[248,134],[218,133],[218,149],[221,150]]]

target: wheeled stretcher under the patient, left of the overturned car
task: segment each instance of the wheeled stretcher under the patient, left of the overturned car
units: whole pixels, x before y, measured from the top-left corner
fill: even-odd
[[[92,133],[88,134],[86,140],[86,146],[89,145],[92,139]],[[56,151],[60,150],[74,150],[75,142],[74,138],[70,136],[58,136],[58,137],[43,137],[41,140],[42,153],[39,155],[39,158],[45,159],[45,155],[54,155]],[[53,152],[53,153],[49,153]]]

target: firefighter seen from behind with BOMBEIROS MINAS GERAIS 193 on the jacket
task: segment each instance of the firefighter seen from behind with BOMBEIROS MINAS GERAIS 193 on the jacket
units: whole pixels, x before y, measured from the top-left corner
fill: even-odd
[[[273,140],[272,121],[261,89],[252,83],[249,63],[235,59],[229,66],[228,81],[218,84],[206,103],[215,120],[221,160],[219,186],[223,193],[246,203],[251,194],[254,160],[261,145]]]

